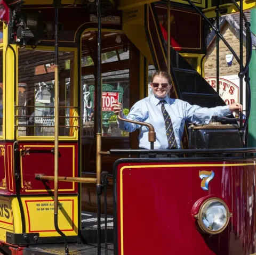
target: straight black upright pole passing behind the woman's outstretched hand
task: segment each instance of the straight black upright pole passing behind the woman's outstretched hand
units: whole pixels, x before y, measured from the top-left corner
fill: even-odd
[[[240,13],[239,13],[239,17],[240,17],[240,32],[239,32],[239,43],[240,43],[240,70],[239,70],[239,73],[238,73],[238,77],[239,77],[239,80],[240,80],[240,83],[239,83],[239,91],[240,91],[240,96],[239,96],[239,103],[243,105],[243,0],[240,0]],[[243,130],[243,111],[240,112],[239,114],[240,116],[240,130]]]

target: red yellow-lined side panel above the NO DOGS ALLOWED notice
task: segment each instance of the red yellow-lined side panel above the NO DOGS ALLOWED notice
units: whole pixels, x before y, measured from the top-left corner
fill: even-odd
[[[21,194],[42,194],[54,190],[53,181],[36,180],[35,174],[54,176],[54,148],[49,143],[19,143]],[[59,144],[59,176],[77,177],[77,144]],[[77,183],[59,182],[59,193],[77,193]]]

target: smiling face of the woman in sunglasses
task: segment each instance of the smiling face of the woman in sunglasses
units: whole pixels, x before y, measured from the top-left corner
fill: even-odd
[[[168,95],[171,85],[168,80],[163,76],[154,77],[153,83],[150,84],[155,96],[164,98]]]

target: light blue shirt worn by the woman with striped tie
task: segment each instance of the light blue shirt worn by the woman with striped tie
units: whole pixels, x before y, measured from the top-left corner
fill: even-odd
[[[217,106],[214,108],[202,108],[198,105],[190,105],[185,101],[173,99],[168,96],[165,98],[158,98],[155,95],[151,95],[143,98],[132,106],[127,117],[122,117],[124,119],[148,122],[153,125],[156,131],[154,149],[168,148],[164,117],[160,103],[160,100],[163,99],[166,101],[164,106],[171,117],[173,131],[179,149],[181,148],[181,138],[186,120],[194,122],[195,124],[209,124],[212,116],[225,117],[231,113],[228,105]],[[133,132],[137,128],[140,129],[139,147],[150,149],[147,127],[124,121],[118,121],[118,124],[119,128],[128,132]]]

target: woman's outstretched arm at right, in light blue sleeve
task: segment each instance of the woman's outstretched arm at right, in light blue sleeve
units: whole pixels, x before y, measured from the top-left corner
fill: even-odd
[[[242,111],[243,106],[234,103],[226,106],[217,106],[213,108],[202,108],[198,105],[190,105],[183,102],[183,111],[185,112],[185,119],[190,120],[196,124],[209,124],[212,116],[225,117],[235,110]]]

